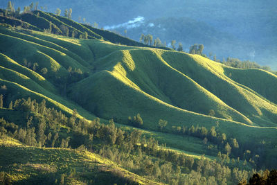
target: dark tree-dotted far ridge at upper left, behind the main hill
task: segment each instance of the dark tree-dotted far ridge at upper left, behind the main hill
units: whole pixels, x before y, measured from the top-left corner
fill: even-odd
[[[28,28],[30,30],[39,30],[46,33],[54,33],[56,35],[66,35],[76,38],[87,37],[88,39],[104,39],[112,43],[125,44],[129,46],[152,47],[136,42],[133,39],[111,33],[107,30],[93,28],[87,24],[80,24],[66,17],[40,10],[23,12],[21,14],[9,12],[8,15],[6,15],[6,10],[0,9],[0,16],[1,24],[8,24],[10,26]],[[85,36],[86,34],[87,36]],[[157,46],[157,48],[170,50],[166,47]]]

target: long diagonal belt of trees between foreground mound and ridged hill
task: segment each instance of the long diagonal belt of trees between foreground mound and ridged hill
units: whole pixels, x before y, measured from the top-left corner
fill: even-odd
[[[245,170],[245,166],[239,165],[240,160],[221,163],[221,161],[205,159],[204,156],[201,159],[194,159],[182,153],[167,150],[159,146],[155,139],[147,138],[140,130],[122,130],[116,127],[112,120],[107,125],[100,123],[98,118],[87,121],[79,118],[76,110],[71,116],[66,116],[54,108],[46,107],[45,100],[41,103],[30,98],[15,100],[12,109],[25,112],[26,118],[23,118],[24,121],[20,124],[8,123],[2,118],[1,136],[12,136],[30,146],[90,150],[134,173],[146,175],[158,182],[238,183],[256,173],[256,170]],[[139,114],[131,120],[139,125],[143,123]],[[161,127],[166,127],[166,121],[161,120],[159,123]],[[215,130],[208,131],[203,127],[195,129],[190,127],[184,130],[190,130],[190,134],[204,133],[207,137],[218,135]]]

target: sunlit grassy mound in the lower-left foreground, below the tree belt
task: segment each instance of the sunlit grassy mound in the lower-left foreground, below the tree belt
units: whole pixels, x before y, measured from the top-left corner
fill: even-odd
[[[157,184],[84,150],[36,148],[0,138],[0,171],[12,184]]]

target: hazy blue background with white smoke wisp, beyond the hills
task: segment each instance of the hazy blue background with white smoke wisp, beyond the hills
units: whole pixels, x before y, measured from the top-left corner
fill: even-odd
[[[15,8],[32,1],[15,0]],[[36,1],[33,1],[34,3]],[[152,34],[168,44],[181,42],[184,50],[204,44],[204,53],[217,59],[233,57],[256,61],[277,70],[276,0],[83,0],[38,1],[39,8],[55,12],[73,9],[73,19],[84,17],[99,28],[109,28],[139,40]],[[8,1],[1,0],[6,8]],[[62,13],[63,15],[63,13]]]

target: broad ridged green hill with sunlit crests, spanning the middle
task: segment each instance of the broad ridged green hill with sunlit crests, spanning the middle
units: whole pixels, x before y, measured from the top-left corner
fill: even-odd
[[[159,119],[168,121],[169,132],[173,125],[219,125],[240,143],[276,146],[277,76],[272,73],[233,69],[177,51],[6,28],[0,28],[0,53],[0,85],[10,94],[6,104],[44,98],[68,114],[77,109],[86,118],[122,124],[140,113],[145,130],[157,131]],[[24,59],[39,66],[28,69]],[[54,81],[69,76],[69,67],[88,76],[66,87],[65,96]],[[270,151],[274,157],[276,148]]]

